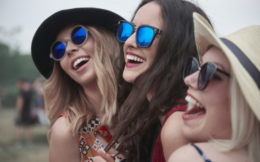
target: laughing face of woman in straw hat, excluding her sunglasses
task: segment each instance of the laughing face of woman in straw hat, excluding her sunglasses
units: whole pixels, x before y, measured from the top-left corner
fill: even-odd
[[[206,62],[214,62],[218,69],[230,73],[230,63],[217,47],[212,47],[205,53],[200,66]],[[183,133],[187,138],[197,142],[207,141],[211,137],[230,139],[232,135],[229,104],[230,79],[216,71],[207,87],[199,90],[198,75],[199,71],[184,79],[185,84],[189,86],[186,100],[192,104],[192,109],[183,115]]]

